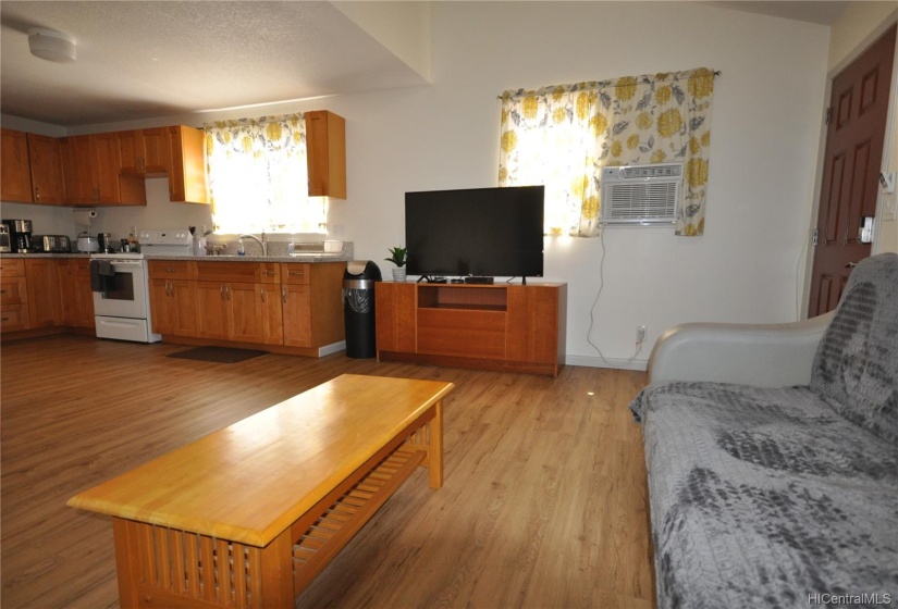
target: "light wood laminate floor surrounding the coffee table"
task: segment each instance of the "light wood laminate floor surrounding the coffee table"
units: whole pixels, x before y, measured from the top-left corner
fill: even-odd
[[[110,521],[65,500],[344,372],[456,384],[445,484],[413,474],[298,606],[653,606],[642,436],[627,410],[644,373],[165,357],[182,349],[82,336],[2,345],[4,609],[116,607]]]

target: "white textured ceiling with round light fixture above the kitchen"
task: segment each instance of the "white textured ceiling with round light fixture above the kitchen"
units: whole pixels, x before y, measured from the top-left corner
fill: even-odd
[[[832,24],[849,2],[708,3]],[[73,127],[428,83],[336,4],[3,0],[0,113]],[[32,27],[75,38],[77,61],[33,57]]]

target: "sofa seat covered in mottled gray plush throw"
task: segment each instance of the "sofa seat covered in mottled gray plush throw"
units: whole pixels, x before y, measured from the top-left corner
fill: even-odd
[[[667,383],[644,421],[659,607],[898,592],[898,450],[807,387]]]

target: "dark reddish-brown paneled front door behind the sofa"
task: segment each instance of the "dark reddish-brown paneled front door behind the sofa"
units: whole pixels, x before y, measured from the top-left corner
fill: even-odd
[[[876,213],[895,32],[893,26],[833,80],[809,316],[835,309],[851,269],[870,256],[860,227]]]

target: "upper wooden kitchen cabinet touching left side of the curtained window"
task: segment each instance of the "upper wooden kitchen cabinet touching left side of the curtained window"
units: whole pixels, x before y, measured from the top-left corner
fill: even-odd
[[[169,199],[182,203],[209,203],[206,185],[206,134],[202,129],[168,127],[171,166]]]

